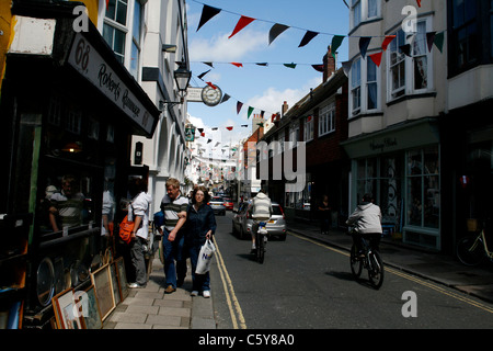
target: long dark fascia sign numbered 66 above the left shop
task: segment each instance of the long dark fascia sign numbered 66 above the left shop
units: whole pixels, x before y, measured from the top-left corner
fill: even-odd
[[[148,134],[152,133],[151,113],[80,33],[72,43],[68,63],[142,129]]]

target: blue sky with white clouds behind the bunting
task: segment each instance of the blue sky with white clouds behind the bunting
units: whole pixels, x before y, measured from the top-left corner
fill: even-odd
[[[197,26],[204,4],[222,11]],[[241,32],[228,38],[240,15],[256,19]],[[265,111],[265,116],[279,112],[287,101],[293,106],[305,97],[310,88],[322,81],[322,73],[311,65],[322,64],[322,57],[333,35],[347,35],[349,11],[343,0],[188,0],[188,54],[193,78],[191,86],[204,87],[210,81],[221,88],[231,99],[215,107],[190,102],[191,122],[204,127],[210,145],[217,141],[228,145],[251,133],[251,117],[248,107],[255,107],[253,114]],[[268,32],[274,23],[289,26],[271,45]],[[298,47],[306,31],[319,32],[308,45]],[[339,48],[337,68],[347,60],[348,38]],[[204,81],[197,76],[210,69],[203,61],[213,61],[214,69]],[[241,63],[238,68],[230,63]],[[255,63],[268,63],[261,67]],[[297,64],[295,69],[283,64]],[[243,107],[237,114],[237,102]],[[249,124],[249,127],[241,125]],[[226,126],[233,126],[231,132]],[[216,132],[210,128],[217,127]],[[198,139],[200,143],[200,139]],[[204,143],[204,138],[202,138]],[[205,140],[204,144],[206,144]]]

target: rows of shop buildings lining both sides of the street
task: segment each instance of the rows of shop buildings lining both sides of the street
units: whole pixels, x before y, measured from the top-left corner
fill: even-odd
[[[385,238],[449,257],[491,227],[493,4],[408,2],[347,1],[348,59],[324,47],[322,82],[218,158],[191,137],[186,1],[1,1],[0,328],[88,327],[59,309],[103,268],[118,293],[100,322],[116,308],[134,179],[151,215],[170,178],[236,208],[265,189],[287,223],[318,225],[326,196],[334,230],[372,193]],[[57,194],[72,222],[53,216]]]

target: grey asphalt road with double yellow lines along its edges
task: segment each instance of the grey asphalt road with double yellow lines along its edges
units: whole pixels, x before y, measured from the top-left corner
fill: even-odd
[[[347,252],[293,233],[270,241],[259,264],[250,241],[231,234],[231,216],[216,217],[218,329],[493,328],[491,304],[392,268],[376,291],[365,271],[360,281],[353,279]]]

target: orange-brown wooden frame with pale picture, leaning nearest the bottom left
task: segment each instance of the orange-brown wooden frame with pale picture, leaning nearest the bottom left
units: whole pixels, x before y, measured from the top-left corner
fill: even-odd
[[[73,288],[67,288],[51,298],[58,329],[82,329],[79,314],[74,314]],[[76,307],[77,308],[77,307]]]

